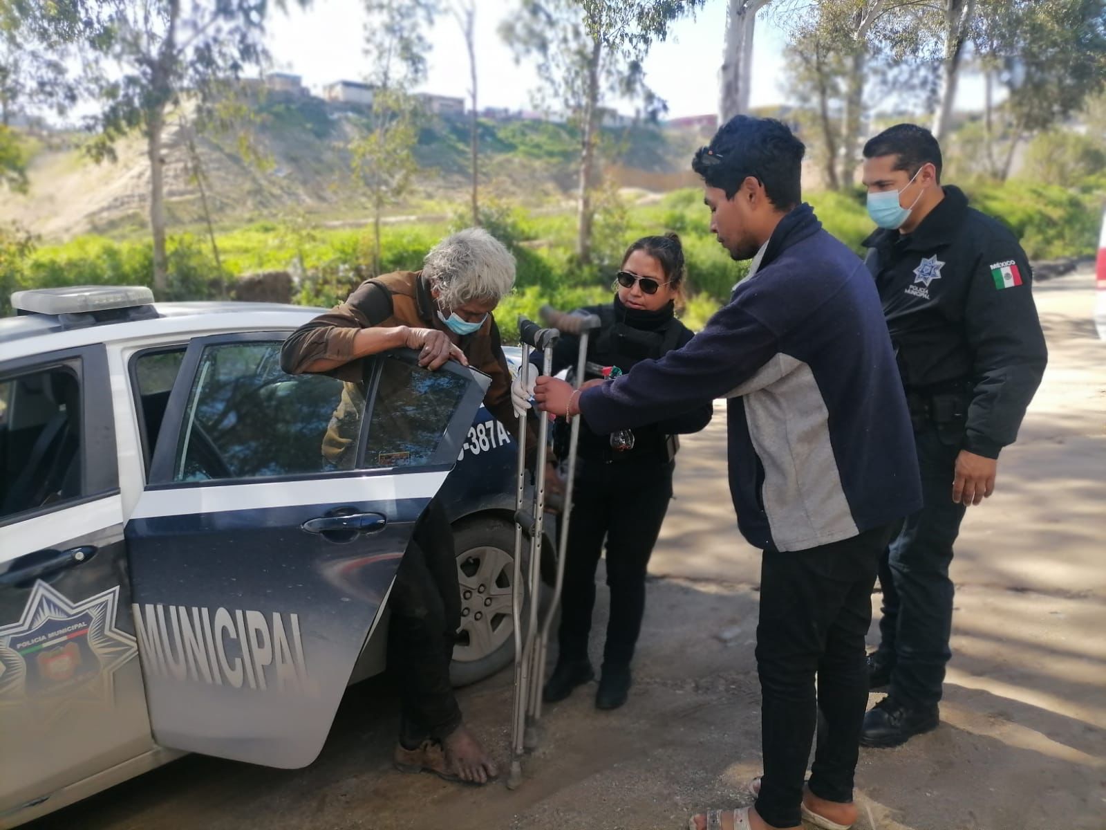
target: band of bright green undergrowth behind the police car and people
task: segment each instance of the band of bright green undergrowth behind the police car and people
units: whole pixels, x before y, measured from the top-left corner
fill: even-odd
[[[553,141],[559,135],[560,129],[552,129],[540,132],[539,138]],[[975,207],[1012,228],[1031,260],[1093,253],[1097,247],[1106,173],[1087,177],[1074,190],[1027,181],[969,185],[966,189]],[[815,193],[808,200],[826,230],[863,252],[860,242],[873,225],[858,191]],[[575,211],[526,211],[494,200],[481,205],[481,224],[510,248],[517,262],[517,291],[497,311],[505,335],[514,336],[519,313],[536,314],[543,302],[572,309],[609,300],[623,252],[641,236],[666,230],[680,235],[688,266],[685,319],[689,325],[700,326],[748,273],[749,263],[733,262],[710,234],[709,214],[698,188],[676,190],[648,206],[628,206],[612,188],[596,204],[594,256],[588,266],[581,266],[575,256]],[[417,270],[430,248],[469,221],[467,207],[458,207],[450,222],[384,226],[382,270]],[[11,292],[22,288],[152,281],[153,256],[145,240],[117,242],[85,236],[34,249],[33,245],[17,243],[18,239],[0,231],[3,311]],[[288,269],[300,279],[299,302],[331,307],[371,276],[373,242],[371,227],[320,228],[292,212],[220,235],[225,268],[220,274],[206,239],[174,236],[169,240],[169,287],[159,299],[216,297],[223,291],[223,280],[233,276]]]

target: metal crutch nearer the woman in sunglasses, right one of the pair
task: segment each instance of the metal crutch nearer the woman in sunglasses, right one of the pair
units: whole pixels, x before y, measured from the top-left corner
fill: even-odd
[[[599,329],[602,322],[595,314],[572,313],[556,311],[549,305],[541,310],[542,320],[557,329],[564,334],[574,334],[580,339],[578,353],[576,355],[576,374],[574,386],[578,390],[584,383],[587,364],[587,341],[592,332]],[[571,421],[568,427],[568,466],[567,480],[564,488],[564,508],[561,511],[561,527],[557,531],[557,557],[556,577],[553,582],[553,598],[545,610],[545,619],[538,635],[538,645],[534,654],[534,665],[531,670],[531,692],[530,692],[530,720],[525,730],[525,747],[534,749],[540,740],[539,727],[542,719],[542,687],[545,685],[545,661],[549,653],[550,631],[553,627],[553,619],[556,616],[557,606],[561,603],[561,592],[564,588],[564,563],[568,552],[568,522],[572,518],[572,492],[576,480],[576,447],[580,442],[580,418]]]

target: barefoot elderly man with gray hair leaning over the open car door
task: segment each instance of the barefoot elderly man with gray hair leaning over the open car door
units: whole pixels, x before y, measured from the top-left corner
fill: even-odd
[[[513,433],[511,376],[492,318],[513,287],[510,251],[480,228],[459,231],[435,246],[421,271],[366,280],[300,328],[284,343],[281,366],[353,382],[361,370],[351,361],[392,349],[418,350],[430,370],[457,360],[491,377],[484,405]],[[388,667],[403,698],[396,767],[469,784],[494,778],[495,764],[465,726],[449,682],[460,587],[452,531],[436,500],[416,526],[389,606]]]

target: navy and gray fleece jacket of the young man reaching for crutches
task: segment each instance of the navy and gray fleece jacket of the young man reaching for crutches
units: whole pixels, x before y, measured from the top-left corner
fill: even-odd
[[[921,507],[914,433],[879,297],[808,205],[687,345],[585,391],[598,433],[727,397],[730,495],[750,543],[806,550]],[[951,483],[950,483],[951,485]]]

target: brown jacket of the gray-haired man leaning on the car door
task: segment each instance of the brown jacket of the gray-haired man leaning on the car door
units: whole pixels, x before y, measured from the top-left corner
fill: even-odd
[[[420,271],[396,271],[366,280],[345,302],[301,325],[284,341],[281,367],[290,374],[300,374],[320,357],[352,361],[353,339],[361,329],[411,325],[448,332],[436,312],[437,303]],[[488,315],[479,331],[462,336],[458,345],[473,369],[491,377],[484,406],[515,435],[519,422],[511,406],[511,374],[492,315]],[[327,374],[347,382],[361,380],[361,370],[353,366],[338,366]],[[533,430],[529,432],[533,438]]]

